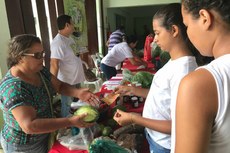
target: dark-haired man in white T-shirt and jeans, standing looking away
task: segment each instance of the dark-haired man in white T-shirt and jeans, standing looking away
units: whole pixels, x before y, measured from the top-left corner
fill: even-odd
[[[60,15],[57,18],[58,34],[53,39],[50,49],[50,72],[59,80],[77,88],[85,81],[82,61],[75,56],[76,43],[70,37],[74,32],[74,23],[69,15]],[[73,97],[61,95],[61,116],[70,113],[70,104]]]

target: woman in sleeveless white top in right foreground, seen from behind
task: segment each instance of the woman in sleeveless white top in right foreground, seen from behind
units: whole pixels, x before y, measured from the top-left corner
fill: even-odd
[[[176,103],[176,153],[230,150],[230,1],[182,0],[189,39],[213,56],[181,81]],[[173,149],[174,151],[174,149]]]

